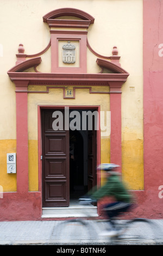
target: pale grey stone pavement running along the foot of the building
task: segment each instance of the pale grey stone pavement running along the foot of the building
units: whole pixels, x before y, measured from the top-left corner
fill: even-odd
[[[163,220],[135,223],[118,239],[99,236],[105,221],[84,222],[0,222],[0,245],[163,245]]]

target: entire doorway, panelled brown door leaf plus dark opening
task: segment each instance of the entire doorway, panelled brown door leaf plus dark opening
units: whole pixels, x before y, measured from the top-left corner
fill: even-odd
[[[70,107],[70,113],[72,111],[74,108],[72,110]],[[76,126],[76,119],[71,117],[70,129],[65,128],[67,126],[63,122],[61,130],[54,130],[53,125],[58,124],[58,115],[65,120],[64,108],[45,108],[41,111],[44,208],[69,206],[70,202],[77,201],[97,184],[97,131],[95,125],[92,125],[92,129],[87,126],[82,129],[83,111],[89,111],[87,119],[92,119],[92,124],[95,124],[92,115],[95,108],[76,108],[75,113],[79,119],[81,117],[80,121],[78,119],[80,127]],[[72,129],[71,125],[76,129]]]

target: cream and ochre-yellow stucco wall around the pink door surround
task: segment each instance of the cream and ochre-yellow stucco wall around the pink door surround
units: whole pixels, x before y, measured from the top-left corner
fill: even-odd
[[[143,189],[143,70],[142,70],[142,0],[1,0],[0,9],[0,185],[4,191],[16,191],[16,174],[7,174],[6,153],[16,152],[15,86],[7,71],[15,65],[18,44],[26,54],[42,51],[50,40],[49,27],[42,16],[59,8],[77,8],[95,17],[87,38],[93,50],[110,56],[114,45],[121,56],[122,68],[129,77],[122,87],[122,176],[134,190]],[[51,71],[51,49],[41,56],[37,70]],[[100,71],[97,57],[87,50],[87,72]],[[29,90],[45,90],[29,87]],[[99,88],[97,88],[99,89]],[[57,93],[57,97],[56,97]],[[89,103],[88,103],[89,102]],[[108,94],[89,94],[76,90],[76,99],[63,99],[62,89],[48,94],[28,94],[29,190],[38,190],[37,105],[101,105],[109,109]],[[110,142],[102,139],[102,162],[110,161]]]

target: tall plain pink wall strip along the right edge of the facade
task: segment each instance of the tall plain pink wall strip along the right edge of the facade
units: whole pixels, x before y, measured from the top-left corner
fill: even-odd
[[[163,185],[163,56],[159,48],[163,44],[162,29],[163,1],[143,0],[145,191],[140,202],[141,212],[149,218],[163,217],[163,190],[159,190]]]

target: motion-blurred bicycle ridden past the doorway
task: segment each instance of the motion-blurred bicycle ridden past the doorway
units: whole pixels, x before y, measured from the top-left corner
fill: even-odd
[[[92,204],[89,198],[80,198],[79,205],[87,206]],[[109,220],[103,218],[92,217],[86,212],[84,208],[84,217],[71,218],[70,220],[61,221],[58,229],[55,228],[55,234],[61,233],[64,237],[65,244],[143,244],[145,240],[154,239],[153,231],[157,230],[155,223],[146,218],[132,218],[131,220],[121,220],[118,215],[114,218],[114,223],[117,230],[120,230],[117,235],[101,236],[103,230],[109,230]],[[141,225],[140,225],[141,224]],[[58,231],[57,231],[58,230]],[[148,234],[147,234],[148,233]],[[152,236],[153,233],[153,236]],[[80,241],[80,242],[79,242]]]

